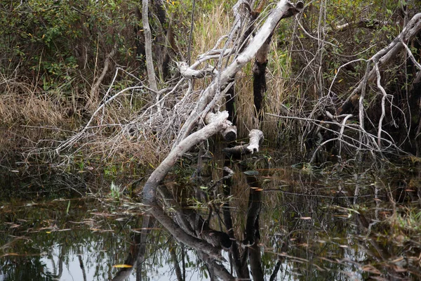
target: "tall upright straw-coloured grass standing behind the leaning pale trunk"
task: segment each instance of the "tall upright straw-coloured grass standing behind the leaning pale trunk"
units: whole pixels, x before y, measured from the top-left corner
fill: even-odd
[[[216,6],[211,13],[202,14],[196,20],[194,32],[194,55],[205,53],[215,45],[220,37],[229,34],[232,27],[232,13],[225,11],[224,5]],[[213,24],[218,22],[218,24]],[[223,47],[221,44],[220,48]],[[216,63],[216,62],[215,62]],[[236,75],[236,115],[239,138],[247,138],[251,129],[259,128],[265,131],[265,138],[274,140],[279,137],[279,119],[265,115],[262,124],[255,118],[253,100],[253,62],[248,63]],[[286,100],[286,77],[288,77],[288,58],[286,53],[279,51],[276,44],[272,44],[267,68],[267,94],[265,97],[265,112],[279,114],[279,102]],[[203,89],[203,83],[196,87]]]

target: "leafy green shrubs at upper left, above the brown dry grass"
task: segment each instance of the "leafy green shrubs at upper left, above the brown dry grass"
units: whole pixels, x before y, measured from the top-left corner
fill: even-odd
[[[44,90],[92,77],[114,42],[131,47],[136,1],[8,1],[0,4],[0,71],[34,77]],[[133,34],[130,34],[133,37]],[[124,45],[126,43],[126,45]],[[133,46],[132,46],[133,47]]]

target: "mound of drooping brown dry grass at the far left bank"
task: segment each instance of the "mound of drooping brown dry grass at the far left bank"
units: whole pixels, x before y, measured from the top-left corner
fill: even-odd
[[[1,77],[0,91],[0,162],[52,146],[62,130],[69,129],[65,106],[57,96],[6,77]]]

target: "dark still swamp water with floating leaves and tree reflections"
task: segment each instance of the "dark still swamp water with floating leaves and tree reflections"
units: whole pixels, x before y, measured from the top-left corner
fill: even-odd
[[[0,280],[420,280],[416,169],[207,156],[149,206],[98,175],[4,177]]]

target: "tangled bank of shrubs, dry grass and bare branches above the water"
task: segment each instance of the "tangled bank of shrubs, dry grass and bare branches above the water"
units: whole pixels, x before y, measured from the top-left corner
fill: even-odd
[[[202,91],[244,51],[276,4],[3,2],[1,164],[156,166],[186,133]],[[288,147],[302,162],[417,155],[418,1],[294,7],[218,89],[232,96],[212,110],[227,104],[239,138],[260,129],[268,145]],[[203,78],[189,77],[182,62]]]

